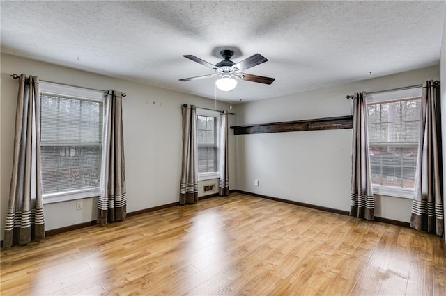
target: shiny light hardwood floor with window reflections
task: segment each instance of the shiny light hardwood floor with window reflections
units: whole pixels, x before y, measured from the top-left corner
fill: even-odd
[[[438,236],[249,195],[1,250],[1,295],[446,295]]]

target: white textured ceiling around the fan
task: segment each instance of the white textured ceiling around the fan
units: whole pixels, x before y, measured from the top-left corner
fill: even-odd
[[[220,49],[271,85],[252,101],[436,65],[445,1],[1,1],[1,52],[214,98]],[[228,93],[217,93],[229,100]]]

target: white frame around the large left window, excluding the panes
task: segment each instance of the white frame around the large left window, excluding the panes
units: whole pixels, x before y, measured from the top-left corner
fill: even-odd
[[[71,85],[63,85],[59,83],[50,83],[46,81],[40,81],[39,83],[39,100],[42,94],[49,94],[55,97],[68,97],[72,99],[80,99],[83,101],[98,101],[102,103],[102,143],[105,134],[105,92],[100,90],[91,90],[89,88],[75,87]],[[39,131],[40,133],[40,131]],[[39,147],[42,140],[39,142]],[[89,197],[98,197],[100,195],[100,188],[103,181],[102,175],[102,161],[104,155],[104,145],[100,145],[101,157],[99,165],[99,184],[98,186],[92,186],[88,188],[80,188],[75,190],[63,190],[59,192],[42,193],[43,204],[52,204],[55,202],[66,202],[75,199],[84,199]]]

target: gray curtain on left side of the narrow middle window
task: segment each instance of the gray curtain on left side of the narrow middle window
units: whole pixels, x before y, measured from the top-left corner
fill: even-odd
[[[198,202],[197,109],[183,104],[183,165],[181,166],[180,204]]]

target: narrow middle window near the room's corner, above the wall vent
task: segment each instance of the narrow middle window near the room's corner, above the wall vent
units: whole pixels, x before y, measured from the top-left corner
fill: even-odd
[[[197,109],[197,149],[199,180],[215,179],[218,174],[218,122],[220,113]]]

